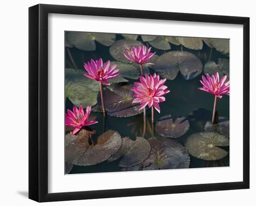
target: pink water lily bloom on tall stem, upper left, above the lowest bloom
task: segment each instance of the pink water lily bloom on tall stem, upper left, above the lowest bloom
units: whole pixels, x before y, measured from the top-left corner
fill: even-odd
[[[107,61],[103,66],[102,59],[99,60],[91,60],[91,62],[84,63],[84,68],[88,72],[88,74],[83,74],[84,76],[100,81],[105,85],[110,85],[107,81],[109,79],[115,78],[119,75],[119,69],[115,69],[116,64],[110,66],[110,61]]]

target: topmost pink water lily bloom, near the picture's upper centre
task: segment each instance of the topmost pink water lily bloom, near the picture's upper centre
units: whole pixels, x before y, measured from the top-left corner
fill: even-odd
[[[146,46],[138,46],[138,47],[132,47],[131,51],[126,50],[126,53],[124,53],[124,56],[130,60],[134,61],[137,64],[150,64],[153,65],[153,63],[147,63],[149,59],[151,59],[155,53],[150,53],[151,47],[148,49]]]

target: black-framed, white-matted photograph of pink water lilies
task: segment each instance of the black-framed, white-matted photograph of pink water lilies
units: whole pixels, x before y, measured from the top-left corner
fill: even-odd
[[[249,188],[249,18],[29,8],[29,198]]]

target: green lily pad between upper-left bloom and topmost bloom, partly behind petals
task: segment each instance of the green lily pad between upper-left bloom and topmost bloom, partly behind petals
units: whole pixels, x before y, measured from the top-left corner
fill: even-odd
[[[127,82],[125,78],[132,80],[139,79],[140,72],[133,64],[122,63],[118,61],[111,61],[110,65],[116,64],[116,69],[119,69],[120,75],[108,80],[110,83]]]

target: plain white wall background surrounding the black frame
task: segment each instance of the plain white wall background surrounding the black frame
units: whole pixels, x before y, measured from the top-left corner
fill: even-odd
[[[253,60],[256,52],[256,13],[252,0],[5,0],[0,13],[0,204],[38,205],[27,199],[28,191],[28,7],[38,3],[90,7],[113,7],[152,11],[203,13],[250,17],[251,105],[256,104],[256,83],[252,82]],[[242,68],[241,68],[242,69]],[[256,78],[256,77],[255,77]],[[255,80],[255,79],[254,79]],[[242,97],[241,97],[242,98]],[[256,109],[251,106],[251,117]],[[251,118],[251,128],[256,119]],[[256,129],[251,129],[251,189],[204,193],[184,193],[129,198],[77,200],[44,203],[43,205],[248,205],[256,204]]]

